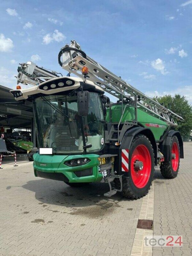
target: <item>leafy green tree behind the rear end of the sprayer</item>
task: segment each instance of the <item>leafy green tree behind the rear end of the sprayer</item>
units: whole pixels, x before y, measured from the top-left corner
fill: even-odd
[[[183,117],[184,121],[178,121],[178,126],[175,127],[175,130],[179,130],[183,137],[190,136],[192,130],[192,106],[188,103],[185,96],[181,96],[180,94],[175,94],[174,97],[164,95],[158,97],[157,100],[164,107],[169,108],[175,114]]]

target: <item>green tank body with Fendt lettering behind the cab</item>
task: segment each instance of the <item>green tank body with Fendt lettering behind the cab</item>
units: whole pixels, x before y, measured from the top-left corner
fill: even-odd
[[[111,118],[109,108],[107,108],[106,122],[119,123],[121,116],[122,105],[114,105],[111,107]],[[133,107],[127,106],[121,122],[133,120],[135,120],[135,109]],[[137,108],[137,121],[142,126],[147,127],[152,131],[155,140],[159,140],[160,137],[163,135],[164,131],[168,128],[168,125],[164,121],[161,121],[160,119],[149,115],[148,113],[139,108]]]

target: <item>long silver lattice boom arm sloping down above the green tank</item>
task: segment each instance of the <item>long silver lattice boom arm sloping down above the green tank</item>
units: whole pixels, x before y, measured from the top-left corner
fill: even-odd
[[[177,125],[176,120],[183,120],[181,116],[163,107],[158,101],[149,98],[147,95],[101,66],[95,60],[88,57],[75,40],[71,41],[70,45],[66,44],[61,49],[58,60],[60,66],[69,73],[74,73],[77,76],[91,80],[95,85],[100,86],[104,91],[119,98],[122,102],[127,102],[127,104],[132,103],[132,105],[136,105],[137,108],[144,110],[169,125],[175,126]],[[80,72],[84,66],[89,70],[86,76],[82,75]],[[133,102],[136,104],[133,104]]]

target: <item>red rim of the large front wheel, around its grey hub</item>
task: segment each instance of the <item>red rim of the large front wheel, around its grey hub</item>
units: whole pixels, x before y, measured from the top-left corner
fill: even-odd
[[[135,161],[143,162],[143,169],[135,171]],[[131,159],[131,177],[134,185],[137,188],[144,188],[148,183],[151,174],[151,155],[148,148],[144,145],[139,145],[135,148]]]

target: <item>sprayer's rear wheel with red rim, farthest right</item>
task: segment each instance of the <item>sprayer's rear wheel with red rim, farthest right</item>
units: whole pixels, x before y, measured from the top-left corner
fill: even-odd
[[[170,151],[170,161],[163,162],[160,165],[160,170],[164,178],[174,179],[177,177],[180,165],[180,148],[176,136],[173,136],[171,139]]]

